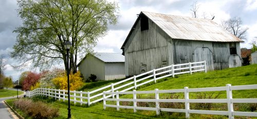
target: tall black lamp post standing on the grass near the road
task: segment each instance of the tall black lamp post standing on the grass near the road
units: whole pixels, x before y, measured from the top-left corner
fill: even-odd
[[[69,49],[71,46],[71,42],[70,41],[65,41],[64,42],[65,47],[66,47],[66,53],[67,53],[67,78],[68,78],[68,118],[71,117],[70,114],[70,98],[69,98]]]

